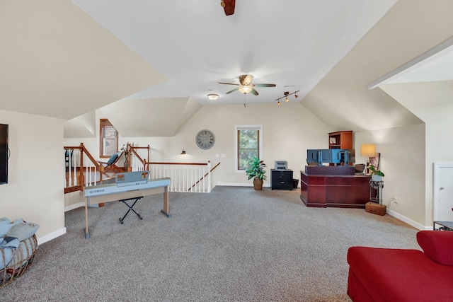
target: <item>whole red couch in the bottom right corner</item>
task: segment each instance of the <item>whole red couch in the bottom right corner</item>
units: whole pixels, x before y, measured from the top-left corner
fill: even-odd
[[[352,301],[453,301],[453,231],[419,231],[417,242],[423,252],[349,248]]]

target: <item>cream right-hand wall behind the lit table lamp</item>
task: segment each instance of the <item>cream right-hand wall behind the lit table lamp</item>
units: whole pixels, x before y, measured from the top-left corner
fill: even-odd
[[[356,162],[365,163],[366,158],[360,156],[361,144],[376,144],[381,153],[383,204],[390,214],[415,228],[432,226],[425,221],[425,124],[356,132]]]

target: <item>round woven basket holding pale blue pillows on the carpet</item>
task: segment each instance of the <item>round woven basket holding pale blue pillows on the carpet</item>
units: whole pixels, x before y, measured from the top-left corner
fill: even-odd
[[[36,240],[35,235],[21,241],[21,244],[16,248],[13,254],[13,259],[5,265],[4,269],[0,270],[0,288],[6,284],[10,284],[16,278],[21,277],[28,269],[31,262],[33,262],[37,249],[38,241]],[[2,257],[5,262],[4,251],[1,248],[0,257]]]

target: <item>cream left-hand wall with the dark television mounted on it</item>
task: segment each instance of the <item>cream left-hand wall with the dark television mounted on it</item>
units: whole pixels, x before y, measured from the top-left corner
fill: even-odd
[[[64,120],[0,110],[9,125],[8,184],[0,185],[0,217],[40,225],[38,243],[64,228]]]

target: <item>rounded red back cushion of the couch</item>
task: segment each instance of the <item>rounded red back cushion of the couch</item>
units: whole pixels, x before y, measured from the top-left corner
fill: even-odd
[[[419,231],[417,242],[430,260],[453,265],[453,231]]]

